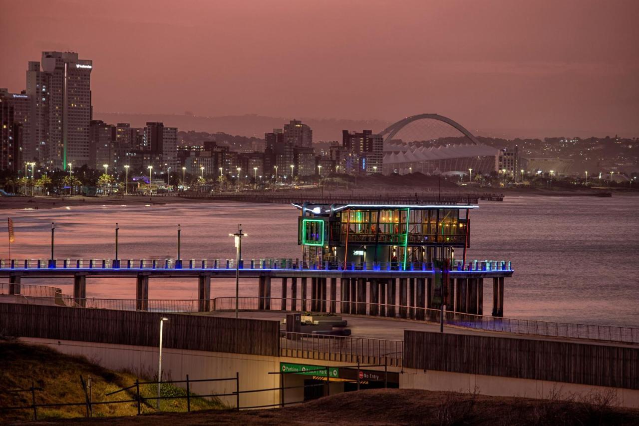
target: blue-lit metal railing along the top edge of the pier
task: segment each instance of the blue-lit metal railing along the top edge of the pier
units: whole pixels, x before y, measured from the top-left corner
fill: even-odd
[[[0,269],[236,269],[235,259],[3,259]],[[344,267],[345,266],[345,267]],[[305,271],[433,271],[432,262],[321,262],[292,258],[244,259],[240,269],[294,269]],[[512,271],[507,260],[454,261],[451,271]]]

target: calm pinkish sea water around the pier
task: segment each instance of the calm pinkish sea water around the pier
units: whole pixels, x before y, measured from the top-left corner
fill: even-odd
[[[590,324],[639,326],[639,197],[509,196],[483,201],[471,214],[468,258],[511,260],[505,280],[507,317]],[[48,258],[50,223],[56,223],[56,258],[112,258],[114,224],[119,223],[119,256],[176,256],[176,228],[182,227],[182,258],[234,258],[229,232],[238,223],[249,237],[243,258],[300,257],[298,212],[286,205],[192,204],[62,207],[0,210],[0,257],[8,258],[6,220],[15,223],[13,258]],[[65,280],[31,280],[72,292]],[[492,286],[484,285],[484,312]],[[212,294],[234,296],[235,281],[213,281]],[[243,296],[257,296],[245,281]],[[275,290],[273,286],[273,290]],[[87,296],[132,299],[134,279],[89,279]],[[197,297],[195,280],[153,279],[151,299]]]

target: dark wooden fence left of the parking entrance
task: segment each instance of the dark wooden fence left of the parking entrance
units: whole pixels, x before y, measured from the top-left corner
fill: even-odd
[[[194,351],[279,356],[279,322],[174,313],[0,303],[0,334]]]

